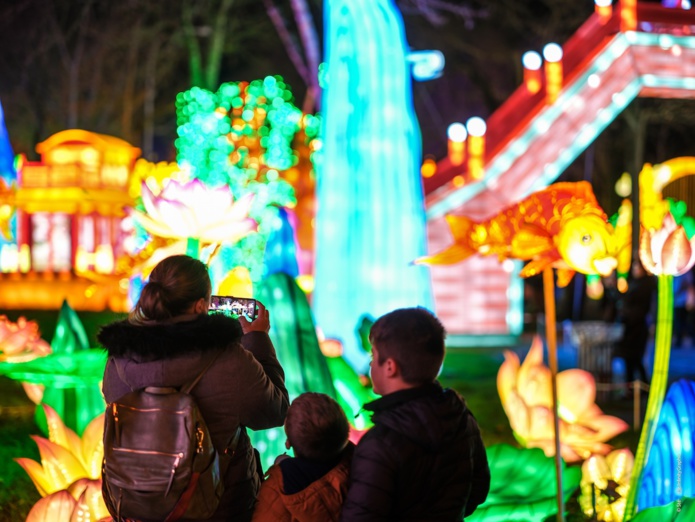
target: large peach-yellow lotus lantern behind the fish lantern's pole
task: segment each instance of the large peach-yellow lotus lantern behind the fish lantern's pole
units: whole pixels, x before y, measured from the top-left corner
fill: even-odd
[[[540,338],[534,338],[523,364],[514,352],[506,351],[504,357],[497,390],[514,436],[525,447],[555,455],[552,374],[543,363]],[[624,421],[604,415],[595,404],[596,384],[589,372],[558,373],[557,396],[560,452],[566,462],[578,462],[593,453],[605,455],[611,450],[605,442],[627,430]]]

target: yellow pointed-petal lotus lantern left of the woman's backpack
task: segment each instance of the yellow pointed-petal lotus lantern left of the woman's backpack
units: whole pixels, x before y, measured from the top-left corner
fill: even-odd
[[[41,463],[15,459],[29,474],[42,497],[68,489],[80,479],[101,479],[104,456],[104,416],[85,428],[82,438],[67,428],[53,408],[42,404],[48,423],[48,439],[32,436],[39,447]]]

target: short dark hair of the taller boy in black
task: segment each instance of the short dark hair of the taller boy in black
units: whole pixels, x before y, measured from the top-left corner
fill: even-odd
[[[425,384],[437,378],[444,361],[444,326],[424,308],[400,308],[381,316],[369,332],[377,363],[393,359],[403,380]]]

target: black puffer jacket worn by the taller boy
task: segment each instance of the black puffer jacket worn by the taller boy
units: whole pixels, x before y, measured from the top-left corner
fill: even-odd
[[[478,423],[435,382],[364,407],[374,427],[352,460],[341,520],[463,520],[487,497],[490,468]]]

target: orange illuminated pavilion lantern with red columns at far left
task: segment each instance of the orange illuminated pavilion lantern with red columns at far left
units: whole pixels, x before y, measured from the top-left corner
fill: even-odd
[[[14,277],[0,306],[57,309],[69,297],[78,310],[124,310],[126,289],[113,272],[124,253],[121,221],[133,204],[128,184],[140,149],[71,129],[36,150],[41,161],[18,168],[16,245],[6,245],[16,255],[2,256],[2,272]]]

